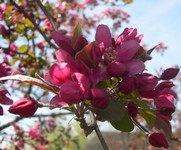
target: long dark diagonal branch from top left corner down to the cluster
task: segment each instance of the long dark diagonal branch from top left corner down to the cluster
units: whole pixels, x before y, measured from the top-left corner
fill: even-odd
[[[24,16],[32,22],[34,27],[40,32],[40,34],[43,36],[43,38],[48,42],[50,46],[52,46],[55,49],[58,49],[58,47],[49,40],[49,38],[43,33],[43,31],[39,28],[36,22],[24,11],[24,9],[17,5],[13,0],[10,0],[10,2],[19,10],[19,12],[23,13]]]

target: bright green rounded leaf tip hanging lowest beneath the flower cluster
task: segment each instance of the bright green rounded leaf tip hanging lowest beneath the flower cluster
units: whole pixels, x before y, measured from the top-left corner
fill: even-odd
[[[115,129],[123,132],[131,132],[134,129],[133,122],[127,113],[124,115],[124,117],[121,120],[112,121],[111,125]]]

